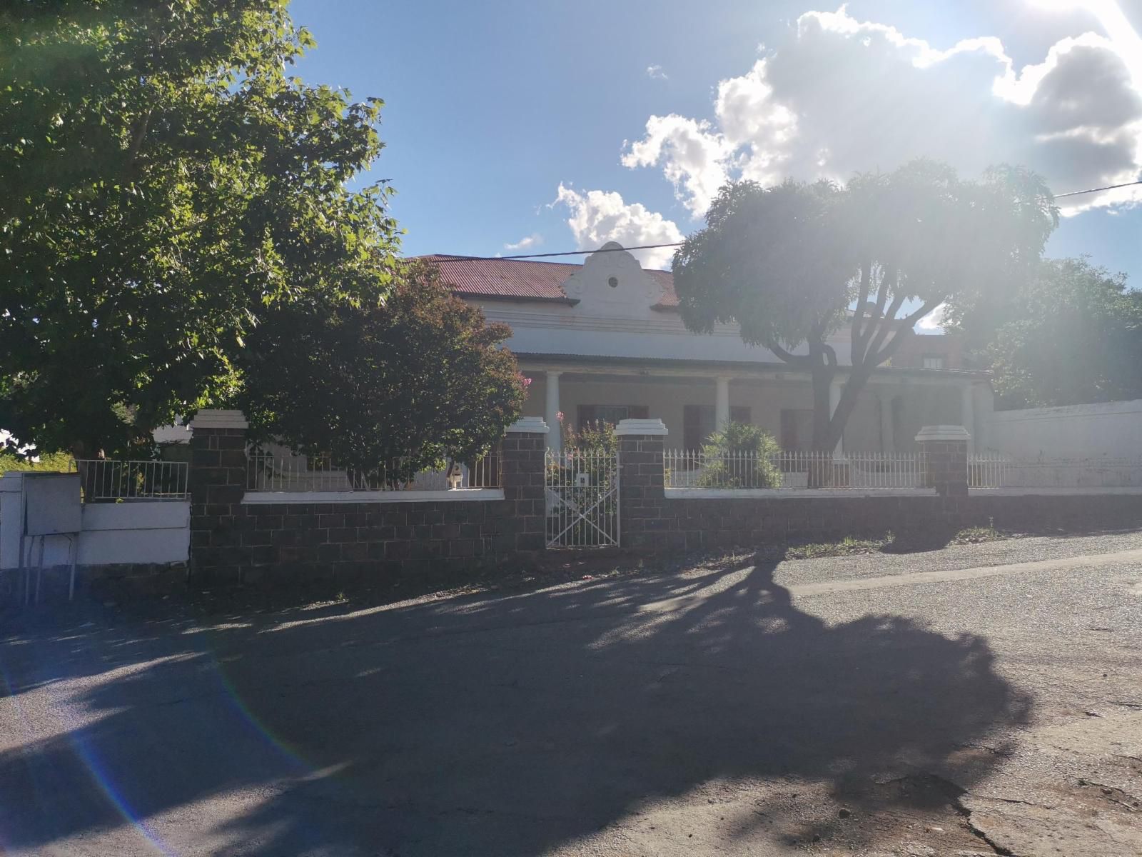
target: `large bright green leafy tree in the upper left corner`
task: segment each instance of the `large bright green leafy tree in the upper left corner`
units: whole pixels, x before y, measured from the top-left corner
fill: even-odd
[[[381,103],[290,77],[312,45],[287,0],[0,5],[0,426],[127,451],[273,307],[386,294]]]

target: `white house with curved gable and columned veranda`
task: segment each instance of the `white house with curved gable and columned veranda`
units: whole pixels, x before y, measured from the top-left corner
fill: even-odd
[[[668,446],[693,449],[715,426],[738,419],[764,426],[787,449],[807,449],[812,425],[809,374],[763,347],[745,344],[732,326],[710,335],[686,330],[668,271],[643,270],[617,243],[584,264],[429,256],[455,294],[512,328],[507,346],[532,379],[525,416],[555,425],[658,417]],[[845,430],[851,451],[907,452],[924,425],[962,424],[983,448],[992,405],[988,373],[947,366],[949,337],[909,351],[917,366],[876,370]],[[847,329],[830,343],[841,363]],[[843,375],[843,369],[842,369]],[[836,403],[843,377],[833,391]],[[552,446],[558,433],[552,432]]]

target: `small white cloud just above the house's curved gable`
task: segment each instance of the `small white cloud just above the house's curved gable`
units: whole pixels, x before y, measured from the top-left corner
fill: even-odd
[[[576,191],[560,183],[552,206],[566,206],[570,211],[568,226],[579,249],[594,250],[608,241],[624,247],[671,243],[682,240],[682,231],[673,221],[650,211],[641,202],[624,202],[613,191]],[[636,250],[643,267],[661,269],[670,263],[673,247]]]

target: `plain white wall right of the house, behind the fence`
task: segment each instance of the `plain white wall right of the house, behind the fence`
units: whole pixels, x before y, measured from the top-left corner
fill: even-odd
[[[995,411],[988,439],[1019,458],[1142,455],[1142,400]]]

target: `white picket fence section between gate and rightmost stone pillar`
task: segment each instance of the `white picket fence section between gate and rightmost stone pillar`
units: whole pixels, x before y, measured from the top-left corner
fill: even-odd
[[[923,488],[923,452],[805,452],[759,456],[751,450],[707,455],[666,450],[667,488],[807,488],[878,490]]]

